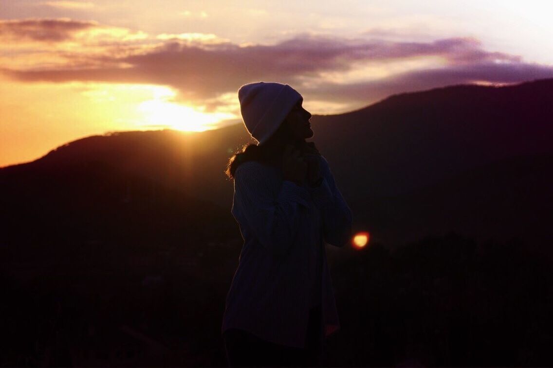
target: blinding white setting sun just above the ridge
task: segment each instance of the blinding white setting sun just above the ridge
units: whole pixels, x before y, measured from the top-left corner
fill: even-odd
[[[187,132],[215,129],[222,120],[232,119],[231,113],[205,113],[202,109],[172,101],[176,93],[168,87],[153,87],[153,99],[139,104],[139,111],[149,127],[166,127]]]

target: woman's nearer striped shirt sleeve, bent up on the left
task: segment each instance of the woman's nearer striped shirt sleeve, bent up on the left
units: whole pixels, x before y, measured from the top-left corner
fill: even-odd
[[[275,198],[268,180],[258,162],[240,165],[234,175],[233,211],[242,214],[264,248],[281,256],[287,253],[298,233],[301,208],[309,206],[309,191],[285,180]]]

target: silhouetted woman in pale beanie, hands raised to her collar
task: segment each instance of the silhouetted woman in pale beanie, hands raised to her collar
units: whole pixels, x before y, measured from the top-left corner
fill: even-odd
[[[229,366],[321,365],[324,338],[340,328],[324,242],[348,242],[351,211],[305,141],[311,114],[297,91],[250,83],[238,99],[258,144],[227,167],[244,239],[221,328]]]

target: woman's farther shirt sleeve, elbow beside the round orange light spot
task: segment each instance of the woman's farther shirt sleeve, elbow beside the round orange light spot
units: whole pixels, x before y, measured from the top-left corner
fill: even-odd
[[[323,180],[319,187],[310,188],[311,197],[322,212],[326,243],[342,247],[351,239],[353,217],[342,193],[336,187],[328,162],[325,157],[320,157]]]

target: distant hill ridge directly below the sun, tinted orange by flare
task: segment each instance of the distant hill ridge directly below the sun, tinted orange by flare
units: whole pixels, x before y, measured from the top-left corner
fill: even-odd
[[[228,201],[233,191],[223,175],[225,163],[238,142],[248,138],[243,129],[237,128],[203,133],[159,130],[90,136],[60,146],[28,164],[0,169],[0,175],[61,175],[92,165],[113,170],[122,178],[140,177],[221,206],[221,196]]]

